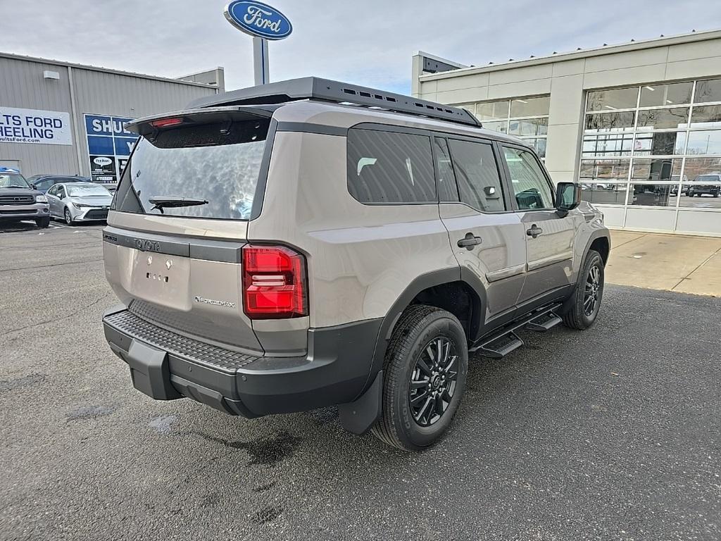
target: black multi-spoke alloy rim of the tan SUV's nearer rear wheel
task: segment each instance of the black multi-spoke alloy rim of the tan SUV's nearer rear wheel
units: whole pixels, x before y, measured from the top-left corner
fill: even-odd
[[[408,400],[413,419],[430,426],[448,410],[458,379],[458,354],[448,338],[430,340],[411,371]]]

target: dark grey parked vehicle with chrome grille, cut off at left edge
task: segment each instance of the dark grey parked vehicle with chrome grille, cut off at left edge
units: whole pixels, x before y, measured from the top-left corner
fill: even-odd
[[[34,220],[38,227],[50,225],[48,198],[10,167],[0,167],[0,220]]]

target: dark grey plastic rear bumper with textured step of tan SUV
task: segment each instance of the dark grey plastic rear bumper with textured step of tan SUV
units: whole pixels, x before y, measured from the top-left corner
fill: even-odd
[[[173,333],[131,314],[105,312],[112,351],[133,385],[156,400],[188,397],[257,417],[349,403],[368,383],[382,320],[310,329],[303,357],[252,356]]]

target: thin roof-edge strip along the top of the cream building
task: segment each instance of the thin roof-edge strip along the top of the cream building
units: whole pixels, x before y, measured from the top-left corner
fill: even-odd
[[[425,74],[419,77],[422,82],[435,81],[438,79],[449,79],[464,75],[485,74],[490,71],[502,71],[504,69],[516,69],[526,66],[539,66],[541,64],[562,62],[567,60],[577,60],[579,58],[589,58],[593,56],[604,56],[613,53],[626,53],[633,50],[650,49],[655,47],[665,47],[668,45],[678,45],[681,43],[694,43],[696,41],[705,41],[721,38],[721,30],[703,30],[701,32],[688,32],[686,34],[678,34],[673,36],[664,36],[663,38],[652,38],[648,40],[633,40],[627,43],[619,43],[616,45],[602,45],[590,49],[572,50],[565,53],[553,53],[546,56],[536,56],[533,58],[525,58],[521,60],[513,60],[502,63],[492,63],[486,66],[471,66],[466,68],[454,69],[453,71],[441,71],[437,74]],[[449,62],[449,61],[446,61]]]

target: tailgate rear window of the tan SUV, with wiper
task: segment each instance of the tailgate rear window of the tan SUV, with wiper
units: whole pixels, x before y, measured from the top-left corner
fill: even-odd
[[[170,128],[141,137],[125,165],[115,209],[191,218],[250,218],[270,120]],[[150,198],[192,198],[157,208]]]

